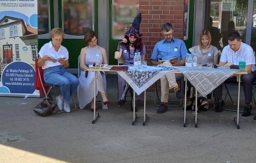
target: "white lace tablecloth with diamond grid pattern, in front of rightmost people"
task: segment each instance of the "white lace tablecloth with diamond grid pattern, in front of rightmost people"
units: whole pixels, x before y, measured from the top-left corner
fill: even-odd
[[[194,69],[192,71],[183,69],[181,72],[202,96],[206,96],[231,75],[240,71],[239,69],[229,69],[229,67],[202,67],[202,69]]]

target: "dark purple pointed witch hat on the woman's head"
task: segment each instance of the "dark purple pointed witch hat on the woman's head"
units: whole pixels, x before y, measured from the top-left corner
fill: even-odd
[[[138,13],[138,15],[134,18],[132,27],[129,29],[129,31],[125,32],[124,34],[128,37],[131,35],[134,35],[137,38],[141,38],[142,34],[140,34],[140,22],[141,22],[141,13]]]

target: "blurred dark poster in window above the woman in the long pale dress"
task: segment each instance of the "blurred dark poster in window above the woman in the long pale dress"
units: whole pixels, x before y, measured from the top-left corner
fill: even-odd
[[[64,38],[83,39],[94,30],[94,0],[62,0]]]

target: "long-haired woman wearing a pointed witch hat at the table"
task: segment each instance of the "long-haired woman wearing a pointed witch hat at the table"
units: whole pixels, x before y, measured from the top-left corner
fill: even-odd
[[[142,61],[145,59],[146,49],[142,43],[142,34],[139,33],[140,22],[141,13],[135,17],[132,27],[124,33],[123,40],[118,43],[115,59],[123,59],[123,65],[133,65],[134,54],[137,52],[140,52]],[[118,104],[120,107],[126,102],[128,90],[130,90],[131,98],[133,99],[133,90],[122,77],[119,76],[118,79]],[[131,103],[131,110],[133,111],[133,102]],[[137,108],[135,110],[137,111]]]

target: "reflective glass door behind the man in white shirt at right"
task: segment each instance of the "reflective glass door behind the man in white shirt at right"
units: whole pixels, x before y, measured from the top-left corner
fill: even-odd
[[[212,45],[222,51],[234,31],[246,41],[248,0],[206,0],[205,4],[204,25],[211,33]]]

